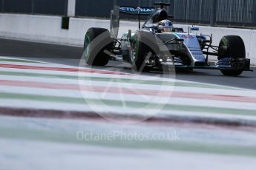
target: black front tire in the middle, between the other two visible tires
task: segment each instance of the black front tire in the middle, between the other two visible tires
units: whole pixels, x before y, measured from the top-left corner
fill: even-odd
[[[152,55],[154,50],[142,42],[142,35],[134,36],[134,41],[131,43],[131,69],[135,72],[150,72],[152,67],[145,64],[148,55]]]

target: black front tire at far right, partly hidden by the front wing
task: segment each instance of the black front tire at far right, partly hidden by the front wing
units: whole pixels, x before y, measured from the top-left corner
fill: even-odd
[[[246,58],[246,47],[243,39],[237,35],[227,35],[221,38],[218,60],[223,58]],[[243,73],[240,69],[221,69],[223,75],[238,76]]]

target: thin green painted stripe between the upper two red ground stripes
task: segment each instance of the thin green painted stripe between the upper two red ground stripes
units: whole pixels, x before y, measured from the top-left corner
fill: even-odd
[[[105,81],[113,83],[128,83],[128,84],[146,84],[146,85],[159,85],[159,86],[183,86],[183,87],[197,87],[209,89],[236,89],[233,87],[215,86],[210,84],[198,84],[190,82],[170,82],[170,81],[145,81],[134,80],[129,78],[103,78],[103,77],[86,77],[76,75],[56,75],[56,74],[42,74],[32,72],[6,72],[0,71],[0,75],[13,75],[13,76],[26,76],[26,77],[39,77],[39,78],[62,78],[70,80],[84,80],[84,81]]]

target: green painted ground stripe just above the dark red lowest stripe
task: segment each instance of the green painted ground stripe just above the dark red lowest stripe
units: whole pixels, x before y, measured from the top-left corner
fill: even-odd
[[[145,103],[137,101],[114,101],[105,99],[91,99],[91,98],[72,98],[72,97],[57,97],[49,95],[24,95],[16,93],[0,92],[0,99],[12,99],[12,100],[27,100],[27,101],[41,101],[41,102],[56,102],[56,103],[76,103],[76,104],[91,104],[98,106],[125,106],[127,108],[135,109],[161,109],[168,111],[182,111],[182,112],[203,112],[205,114],[228,114],[228,115],[250,115],[256,116],[256,110],[250,109],[230,109],[210,106],[189,106],[189,105],[177,105],[170,103]]]

